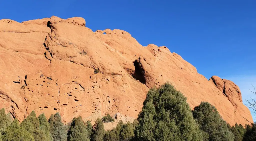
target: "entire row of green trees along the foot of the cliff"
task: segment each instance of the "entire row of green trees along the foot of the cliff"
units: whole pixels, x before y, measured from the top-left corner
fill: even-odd
[[[98,118],[95,124],[74,117],[70,125],[61,121],[57,112],[49,119],[32,111],[21,123],[0,110],[0,141],[253,141],[256,125],[224,121],[217,109],[201,102],[190,109],[186,97],[174,86],[165,83],[148,91],[142,111],[133,123],[119,121],[112,130],[104,130],[103,122],[112,122],[110,115]]]

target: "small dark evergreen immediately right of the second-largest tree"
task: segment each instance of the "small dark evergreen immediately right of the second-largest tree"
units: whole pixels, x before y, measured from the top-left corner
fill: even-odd
[[[234,134],[234,141],[243,141],[243,137],[246,132],[246,129],[243,128],[243,125],[238,125],[236,123],[235,126],[232,126],[230,130]]]

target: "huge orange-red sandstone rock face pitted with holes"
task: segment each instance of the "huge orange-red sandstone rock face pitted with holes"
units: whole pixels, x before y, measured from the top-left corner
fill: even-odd
[[[167,81],[191,109],[208,101],[230,124],[253,121],[233,82],[208,81],[165,46],[142,46],[118,29],[93,32],[79,17],[0,20],[0,59],[0,108],[20,121],[32,110],[47,118],[60,112],[64,122],[136,118],[149,88]]]

